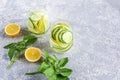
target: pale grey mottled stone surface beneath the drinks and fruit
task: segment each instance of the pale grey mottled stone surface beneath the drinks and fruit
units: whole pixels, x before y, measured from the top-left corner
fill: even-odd
[[[27,18],[30,11],[44,8],[50,23],[67,21],[73,27],[74,45],[66,54],[67,67],[73,69],[71,80],[120,80],[120,4],[119,0],[1,0],[0,1],[0,80],[47,80],[44,75],[26,76],[35,71],[38,63],[29,63],[24,56],[6,69],[9,63],[3,46],[29,34]],[[6,24],[16,22],[22,27],[20,36],[5,35]],[[32,46],[48,50],[49,34],[39,38]]]

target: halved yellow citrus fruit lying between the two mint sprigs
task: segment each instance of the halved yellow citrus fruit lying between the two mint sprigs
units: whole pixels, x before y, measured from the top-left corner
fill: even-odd
[[[41,58],[41,50],[39,48],[30,47],[25,51],[25,58],[29,62],[36,62]]]

